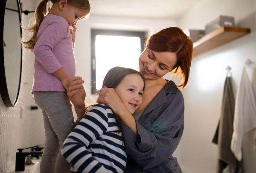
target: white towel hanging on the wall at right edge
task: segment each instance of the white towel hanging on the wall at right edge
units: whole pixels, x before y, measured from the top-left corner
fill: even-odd
[[[233,129],[231,150],[241,161],[243,139],[256,149],[256,99],[245,67],[236,94]]]

